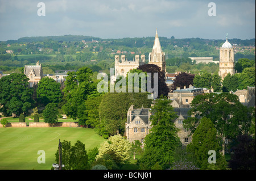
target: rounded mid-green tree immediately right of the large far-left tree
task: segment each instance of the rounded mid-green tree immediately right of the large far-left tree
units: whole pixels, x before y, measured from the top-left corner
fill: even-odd
[[[48,103],[58,104],[61,100],[60,83],[49,77],[42,78],[36,90],[38,102],[46,106]]]

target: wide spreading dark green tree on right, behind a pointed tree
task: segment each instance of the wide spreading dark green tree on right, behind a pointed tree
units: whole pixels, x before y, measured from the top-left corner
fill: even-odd
[[[222,92],[221,94],[197,95],[191,102],[188,119],[184,120],[184,128],[195,132],[201,117],[209,118],[221,138],[222,149],[226,138],[236,138],[242,132],[248,132],[251,124],[250,111],[239,102],[238,96]]]

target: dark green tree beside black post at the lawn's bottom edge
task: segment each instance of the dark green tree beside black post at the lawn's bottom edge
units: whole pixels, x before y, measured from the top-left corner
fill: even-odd
[[[88,155],[85,150],[85,145],[77,140],[72,146],[70,141],[64,140],[62,146],[62,163],[65,170],[85,170],[89,169]],[[55,161],[59,164],[59,147],[55,154]]]

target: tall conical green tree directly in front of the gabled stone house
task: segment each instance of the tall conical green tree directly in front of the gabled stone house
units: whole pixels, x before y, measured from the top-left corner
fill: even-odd
[[[177,115],[170,103],[171,100],[163,96],[155,100],[150,118],[152,128],[145,137],[144,153],[138,161],[141,169],[152,169],[156,162],[166,169],[174,162],[174,150],[180,140],[173,121]]]

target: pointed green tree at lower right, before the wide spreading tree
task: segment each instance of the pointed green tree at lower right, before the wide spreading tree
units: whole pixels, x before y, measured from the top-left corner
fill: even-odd
[[[225,169],[226,161],[220,154],[221,146],[218,144],[217,129],[214,128],[212,121],[206,117],[200,120],[200,124],[196,128],[192,136],[192,142],[188,144],[187,151],[196,157],[197,165],[200,169],[205,170],[212,168],[208,162],[208,151],[214,150],[216,153],[216,164],[214,169]]]

